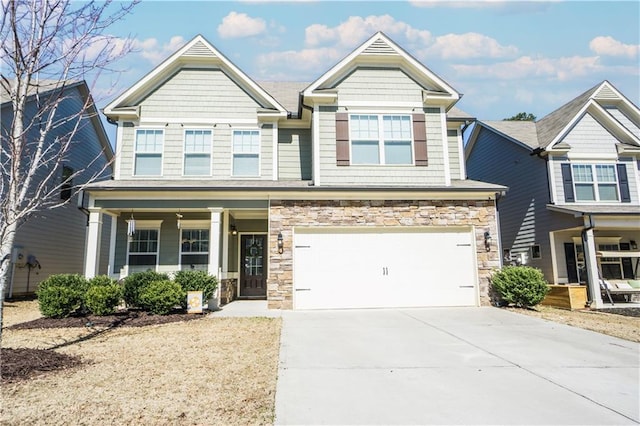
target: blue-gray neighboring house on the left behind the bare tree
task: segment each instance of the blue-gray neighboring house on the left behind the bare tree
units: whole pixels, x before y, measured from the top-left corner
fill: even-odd
[[[12,297],[34,293],[38,284],[49,275],[84,272],[87,213],[78,208],[78,195],[74,194],[73,187],[86,183],[95,175],[102,179],[111,176],[110,162],[113,159],[113,150],[87,84],[84,81],[69,83],[63,91],[53,88],[40,90],[39,97],[39,100],[33,95],[29,98],[28,114],[35,113],[38,109],[37,102],[46,102],[50,97],[60,97],[57,112],[60,121],[65,117],[74,117],[68,124],[57,127],[47,135],[48,144],[68,135],[72,126],[78,123],[75,116],[85,108],[85,104],[88,105],[88,109],[83,114],[84,118],[78,126],[74,141],[58,165],[59,181],[53,182],[54,185],[60,185],[72,176],[68,185],[60,189],[60,195],[52,200],[53,204],[65,201],[66,204],[54,209],[44,208],[18,228],[14,241],[13,265],[5,288],[7,296]],[[13,107],[11,102],[6,102],[7,98],[6,92],[3,92],[3,141],[13,117]],[[34,127],[33,131],[33,137],[37,138],[39,129]],[[44,167],[40,170],[42,175],[46,173]],[[110,226],[108,218],[105,226]],[[105,248],[108,247],[109,240],[105,239],[102,244]],[[107,260],[106,256],[101,259],[103,267],[98,269],[97,273],[108,272]]]

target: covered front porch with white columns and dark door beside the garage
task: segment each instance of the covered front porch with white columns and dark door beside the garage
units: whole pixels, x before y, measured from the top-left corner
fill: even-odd
[[[204,270],[218,278],[218,301],[266,299],[267,200],[92,200],[88,208],[85,275],[122,279],[154,270]],[[110,229],[103,226],[111,216]],[[104,259],[105,256],[102,256]],[[102,268],[104,269],[104,267]]]

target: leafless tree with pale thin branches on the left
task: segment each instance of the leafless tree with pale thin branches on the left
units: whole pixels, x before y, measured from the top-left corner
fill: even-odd
[[[59,179],[82,126],[98,114],[91,96],[75,113],[62,114],[73,93],[68,89],[89,80],[93,86],[131,51],[131,39],[109,35],[107,29],[136,3],[2,1],[0,94],[3,105],[11,104],[11,118],[2,128],[0,149],[0,330],[16,231],[37,212],[60,206],[62,186],[90,166]],[[86,184],[100,175],[82,180]]]

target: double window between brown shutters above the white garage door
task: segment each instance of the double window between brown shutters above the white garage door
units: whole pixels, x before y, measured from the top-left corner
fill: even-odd
[[[412,164],[411,116],[352,114],[353,164]]]

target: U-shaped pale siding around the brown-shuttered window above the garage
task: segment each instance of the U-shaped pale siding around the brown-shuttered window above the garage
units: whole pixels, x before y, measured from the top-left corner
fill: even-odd
[[[440,109],[425,108],[427,167],[336,165],[336,110],[320,108],[320,176],[322,185],[443,185],[445,183]]]

